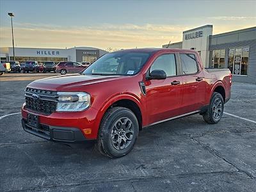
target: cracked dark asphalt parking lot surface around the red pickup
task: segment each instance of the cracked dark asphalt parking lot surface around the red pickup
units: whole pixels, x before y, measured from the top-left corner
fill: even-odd
[[[0,77],[0,191],[255,191],[256,84],[233,83],[219,124],[194,115],[147,127],[130,154],[109,159],[92,143],[23,131],[24,88],[54,75]]]

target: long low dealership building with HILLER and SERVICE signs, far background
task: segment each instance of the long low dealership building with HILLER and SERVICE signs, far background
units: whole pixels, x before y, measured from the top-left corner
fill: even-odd
[[[15,60],[24,61],[76,61],[90,62],[97,60],[107,51],[93,47],[72,47],[70,49],[23,48],[15,47]],[[13,48],[0,48],[1,61],[13,61]]]

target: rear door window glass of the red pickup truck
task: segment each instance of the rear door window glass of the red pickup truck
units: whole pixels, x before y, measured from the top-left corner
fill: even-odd
[[[195,54],[180,54],[183,74],[195,74],[198,72]]]

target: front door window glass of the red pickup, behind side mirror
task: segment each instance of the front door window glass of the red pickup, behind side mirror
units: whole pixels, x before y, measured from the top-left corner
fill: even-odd
[[[176,61],[174,54],[164,54],[159,56],[150,67],[153,70],[163,70],[167,77],[176,76]]]

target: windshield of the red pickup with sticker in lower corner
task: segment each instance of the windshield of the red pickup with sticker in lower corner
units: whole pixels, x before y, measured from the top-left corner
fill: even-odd
[[[140,72],[150,54],[147,52],[113,52],[105,54],[83,71],[85,75],[133,76]]]

